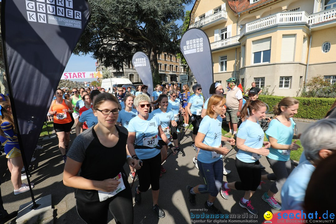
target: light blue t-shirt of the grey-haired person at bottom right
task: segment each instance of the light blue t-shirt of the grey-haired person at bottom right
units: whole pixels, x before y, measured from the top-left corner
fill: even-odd
[[[303,210],[304,196],[314,170],[307,160],[294,168],[281,190],[281,210]]]

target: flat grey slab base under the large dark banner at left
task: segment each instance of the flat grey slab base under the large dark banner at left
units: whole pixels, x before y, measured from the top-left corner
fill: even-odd
[[[26,220],[36,219],[37,220],[52,220],[53,219],[53,209],[51,208],[51,194],[44,197],[40,197],[35,200],[38,207],[32,209],[33,202],[30,201],[26,204],[20,206],[16,217],[16,223],[37,223],[37,222],[26,222]],[[43,213],[43,214],[42,214]],[[45,223],[45,222],[38,222]]]

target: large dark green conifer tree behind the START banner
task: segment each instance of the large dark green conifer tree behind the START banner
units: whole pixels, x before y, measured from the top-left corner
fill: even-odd
[[[105,67],[121,70],[136,51],[150,58],[154,84],[159,83],[157,55],[179,51],[184,4],[193,0],[89,0],[91,20],[75,54],[92,53]]]

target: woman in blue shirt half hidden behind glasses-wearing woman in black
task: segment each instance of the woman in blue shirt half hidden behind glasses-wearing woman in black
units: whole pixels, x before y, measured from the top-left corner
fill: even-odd
[[[100,94],[101,92],[97,89],[92,90],[91,94],[90,94],[90,101],[92,102],[92,104],[94,103],[94,100],[96,99],[96,97]],[[86,122],[86,125],[88,128],[91,128],[92,126],[94,126],[95,124],[98,123],[97,117],[94,116],[93,114],[93,108],[91,107],[91,109],[88,109],[86,111],[84,111],[81,115],[81,117],[79,118],[79,121],[76,125],[76,135],[78,136],[81,133],[81,127],[83,125],[83,123]]]

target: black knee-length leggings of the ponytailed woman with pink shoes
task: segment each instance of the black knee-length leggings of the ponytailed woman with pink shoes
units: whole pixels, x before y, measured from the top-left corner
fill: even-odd
[[[259,160],[254,163],[245,163],[236,158],[236,168],[240,181],[235,183],[237,190],[256,191],[261,180],[261,169]]]

